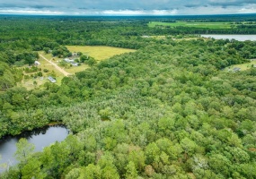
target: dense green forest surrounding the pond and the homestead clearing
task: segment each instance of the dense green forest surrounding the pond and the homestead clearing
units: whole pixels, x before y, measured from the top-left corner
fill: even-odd
[[[1,178],[256,178],[256,68],[223,70],[256,58],[256,42],[190,39],[194,29],[149,28],[148,21],[0,18],[0,137],[51,122],[73,132],[36,153],[20,141],[20,163]],[[16,86],[17,66],[66,45],[137,51],[76,72],[61,85]]]

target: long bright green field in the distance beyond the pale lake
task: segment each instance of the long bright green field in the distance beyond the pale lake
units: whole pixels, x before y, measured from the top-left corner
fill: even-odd
[[[163,27],[194,27],[194,28],[208,28],[208,29],[231,29],[235,25],[233,22],[216,21],[216,22],[198,22],[198,21],[176,21],[176,22],[161,22],[161,21],[150,21],[148,23],[149,27],[154,28],[155,26]]]

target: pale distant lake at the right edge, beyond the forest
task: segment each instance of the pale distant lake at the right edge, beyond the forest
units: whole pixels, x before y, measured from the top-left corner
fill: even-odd
[[[238,41],[252,40],[256,41],[256,35],[215,35],[215,34],[203,34],[202,38],[216,38],[216,39],[236,39]]]

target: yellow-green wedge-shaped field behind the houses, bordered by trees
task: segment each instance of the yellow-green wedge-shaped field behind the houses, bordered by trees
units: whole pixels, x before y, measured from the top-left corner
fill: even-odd
[[[97,61],[110,58],[113,55],[120,55],[136,50],[119,48],[119,47],[103,47],[103,46],[66,46],[71,52],[82,52],[84,55],[90,55]]]

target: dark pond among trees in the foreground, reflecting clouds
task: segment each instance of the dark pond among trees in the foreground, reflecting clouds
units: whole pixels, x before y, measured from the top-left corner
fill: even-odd
[[[29,142],[35,145],[35,151],[41,151],[44,147],[49,146],[55,141],[64,141],[68,135],[68,130],[63,124],[57,124],[53,126],[46,126],[40,129],[36,129],[31,132],[22,132],[17,136],[7,136],[0,140],[0,165],[2,163],[13,166],[18,163],[13,157],[16,151],[16,143],[21,138],[26,138]],[[5,168],[0,167],[0,173],[4,172]]]

